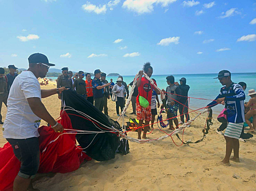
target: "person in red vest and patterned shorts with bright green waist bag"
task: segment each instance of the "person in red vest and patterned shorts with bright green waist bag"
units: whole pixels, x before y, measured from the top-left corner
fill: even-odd
[[[147,62],[144,64],[143,67],[144,72],[147,76],[151,77],[153,73],[153,68],[151,67],[150,63]],[[140,127],[138,129],[138,139],[141,139],[141,132],[142,132],[142,124],[145,120],[144,133],[143,139],[146,139],[147,129],[149,128],[149,122],[152,120],[151,115],[151,98],[152,98],[152,91],[155,89],[156,93],[159,95],[160,91],[155,88],[155,86],[150,84],[150,81],[143,77],[143,70],[139,71],[139,79],[136,82],[136,87],[138,87],[138,97],[136,99],[136,113],[137,113],[137,120],[139,120]],[[156,85],[156,82],[154,82]]]

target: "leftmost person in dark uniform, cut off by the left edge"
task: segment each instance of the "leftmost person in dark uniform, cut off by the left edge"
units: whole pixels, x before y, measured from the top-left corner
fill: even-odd
[[[7,82],[4,78],[4,73],[5,73],[4,69],[0,68],[0,124],[3,124],[2,115],[1,115],[2,104],[4,103],[7,106],[7,98],[8,98]]]

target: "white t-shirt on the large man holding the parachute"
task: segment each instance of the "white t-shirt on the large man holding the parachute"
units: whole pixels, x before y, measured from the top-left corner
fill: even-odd
[[[10,88],[7,115],[2,129],[4,138],[27,139],[39,136],[41,119],[33,113],[27,98],[41,99],[41,88],[32,71],[22,71]]]

